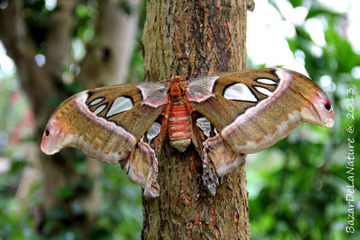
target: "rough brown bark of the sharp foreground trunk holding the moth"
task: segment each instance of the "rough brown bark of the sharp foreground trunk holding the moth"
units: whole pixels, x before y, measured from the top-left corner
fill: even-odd
[[[245,67],[247,1],[147,1],[146,80],[199,77]],[[160,197],[143,199],[143,239],[250,239],[245,168],[221,178],[212,197],[190,145],[167,144],[159,159]]]

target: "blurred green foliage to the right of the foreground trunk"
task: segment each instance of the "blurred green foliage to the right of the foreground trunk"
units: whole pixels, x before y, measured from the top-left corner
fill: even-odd
[[[290,1],[294,8],[305,1]],[[307,1],[309,3],[309,1]],[[275,4],[274,4],[275,5]],[[326,75],[331,84],[324,90],[330,97],[335,112],[332,129],[303,124],[273,147],[256,156],[249,156],[247,180],[252,239],[360,239],[360,223],[355,220],[355,233],[346,233],[348,219],[348,193],[346,172],[349,169],[348,138],[355,139],[355,159],[360,149],[360,80],[352,71],[360,66],[360,55],[352,50],[349,41],[339,29],[344,14],[326,10],[311,1],[307,19],[326,19],[324,30],[326,45],[317,46],[304,25],[296,26],[296,37],[289,38],[291,51],[304,55],[304,66],[309,76],[320,84]],[[313,47],[322,53],[315,55]],[[354,95],[347,88],[355,90]],[[348,102],[353,97],[355,101]],[[346,106],[355,108],[354,120],[348,119]],[[356,109],[357,108],[357,109]],[[354,125],[355,132],[346,132],[346,125]],[[356,164],[355,219],[360,219],[359,181],[360,167]]]

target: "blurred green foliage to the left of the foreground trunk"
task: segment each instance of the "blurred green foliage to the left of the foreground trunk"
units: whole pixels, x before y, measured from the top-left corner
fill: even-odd
[[[97,21],[97,1],[80,1],[73,12],[73,62],[69,64],[64,73],[75,77],[76,67],[86,54],[86,47],[97,45],[95,38],[95,24]],[[130,1],[119,1],[119,8],[130,13],[134,7]],[[143,57],[141,52],[141,35],[145,23],[145,1],[142,1],[139,12],[139,29],[134,43],[134,54],[130,63],[128,82],[143,80]],[[47,10],[44,0],[24,0],[23,14],[25,22],[31,33],[38,53],[43,52],[47,27],[45,19],[49,14],[56,12]],[[0,64],[1,70],[1,64]],[[1,72],[2,73],[2,72]],[[41,207],[41,184],[36,181],[30,186],[29,197],[23,202],[16,192],[25,168],[32,167],[33,163],[25,160],[27,144],[34,139],[22,136],[21,142],[13,144],[10,138],[16,132],[16,123],[24,117],[24,112],[29,108],[25,97],[21,97],[21,104],[10,102],[12,94],[19,93],[19,82],[16,76],[0,75],[0,165],[10,163],[5,170],[0,169],[0,240],[2,239],[56,239],[72,240],[84,239],[76,226],[66,226],[67,222],[78,219],[83,221],[85,208],[77,200],[82,193],[87,193],[93,188],[93,181],[86,178],[88,166],[84,161],[84,154],[75,151],[72,171],[80,173],[81,178],[75,187],[62,187],[57,189],[56,197],[69,203],[67,206],[56,206],[43,213]],[[73,81],[64,85],[69,95],[82,91],[82,86]],[[22,96],[22,95],[21,95]],[[51,106],[58,106],[64,99],[49,99]],[[97,213],[97,224],[90,230],[86,239],[140,239],[142,229],[141,187],[130,182],[120,165],[103,165],[104,169],[99,176],[101,184],[101,206]],[[0,166],[1,168],[1,166]],[[45,214],[47,221],[38,219]],[[43,226],[38,228],[38,224]],[[38,232],[41,229],[41,232]],[[61,229],[59,231],[59,229]],[[56,232],[56,235],[53,234]],[[51,236],[51,237],[50,237]]]

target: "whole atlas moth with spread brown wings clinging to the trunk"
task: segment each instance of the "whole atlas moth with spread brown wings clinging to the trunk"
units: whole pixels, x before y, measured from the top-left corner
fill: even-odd
[[[120,84],[83,91],[51,115],[41,149],[77,147],[158,197],[158,156],[168,137],[184,152],[193,143],[203,182],[213,195],[218,178],[245,155],[285,138],[302,122],[331,128],[333,108],[308,77],[287,69],[252,69],[158,83]]]

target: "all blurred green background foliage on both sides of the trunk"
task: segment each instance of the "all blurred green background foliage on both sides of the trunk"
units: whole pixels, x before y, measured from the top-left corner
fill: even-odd
[[[34,38],[34,43],[40,49],[46,29],[42,19],[50,10],[45,8],[43,0],[24,0],[23,12],[27,27]],[[302,0],[290,0],[293,7],[305,5]],[[309,1],[307,1],[309,3]],[[296,37],[289,38],[291,51],[304,54],[304,64],[309,76],[319,82],[327,75],[333,85],[325,89],[331,98],[335,112],[335,126],[324,129],[315,125],[303,124],[280,141],[274,147],[265,149],[259,154],[248,156],[247,180],[250,222],[252,239],[360,239],[359,181],[360,167],[355,163],[355,234],[346,234],[345,226],[348,220],[348,208],[345,201],[348,174],[346,156],[348,154],[348,137],[355,138],[355,156],[360,156],[360,80],[351,74],[354,67],[360,65],[360,56],[352,50],[348,40],[339,34],[339,22],[345,16],[322,8],[316,1],[311,1],[307,19],[324,17],[327,27],[324,32],[326,46],[320,47],[322,53],[314,55],[311,50],[316,46],[303,25],[296,26]],[[132,12],[128,1],[119,1],[119,8]],[[56,9],[55,9],[56,10]],[[55,11],[53,10],[53,11]],[[73,48],[96,44],[94,39],[95,22],[97,18],[96,1],[80,1],[75,8],[73,32]],[[145,22],[145,2],[142,5],[139,32],[136,37],[135,51],[132,56],[128,82],[143,80],[143,58],[141,52],[141,34]],[[316,46],[319,47],[319,46]],[[85,49],[85,47],[84,47]],[[74,49],[74,55],[76,49]],[[80,61],[83,53],[80,53]],[[251,64],[250,64],[251,65]],[[264,63],[263,66],[265,67]],[[69,67],[70,69],[70,67]],[[71,73],[70,70],[69,71]],[[0,134],[11,132],[13,124],[19,121],[19,115],[14,112],[24,111],[24,104],[17,104],[12,109],[7,102],[14,91],[17,82],[14,77],[1,77],[0,82]],[[81,86],[70,84],[69,92],[77,92]],[[347,88],[354,88],[355,120],[347,119]],[[54,99],[58,105],[60,99]],[[25,102],[23,100],[22,102]],[[3,116],[7,116],[4,118]],[[16,117],[17,116],[17,117]],[[11,119],[6,121],[4,119]],[[346,125],[352,124],[355,132],[346,132]],[[1,135],[1,141],[4,141]],[[27,139],[27,140],[26,140]],[[22,142],[31,140],[23,138]],[[81,216],[84,208],[73,195],[77,191],[91,189],[92,182],[84,178],[75,189],[58,189],[60,199],[71,202],[71,209],[54,208],[47,215],[43,232],[36,231],[39,219],[37,211],[40,205],[40,185],[35,182],[30,187],[29,199],[26,204],[15,198],[21,174],[28,167],[21,154],[21,145],[0,145],[0,156],[10,159],[10,167],[0,173],[0,239],[47,239],[46,236],[56,228],[59,221],[66,221],[70,216]],[[5,147],[4,147],[5,146]],[[19,154],[20,153],[20,154]],[[82,153],[77,152],[73,169],[79,173],[87,171]],[[98,213],[97,227],[91,232],[90,239],[140,239],[142,228],[141,188],[130,182],[119,165],[104,165],[101,182],[101,208]],[[23,207],[21,207],[23,206]],[[81,221],[81,218],[79,219]],[[59,232],[52,239],[82,239],[75,228]]]

